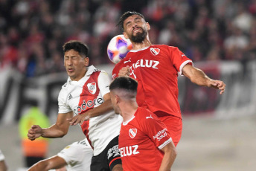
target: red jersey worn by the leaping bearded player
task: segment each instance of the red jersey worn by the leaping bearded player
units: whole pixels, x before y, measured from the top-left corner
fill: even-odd
[[[129,65],[130,77],[138,81],[138,106],[158,115],[164,112],[182,117],[178,101],[178,72],[182,74],[182,68],[188,63],[193,64],[179,48],[151,45],[129,51],[127,57],[115,65],[112,77],[118,77],[119,70]]]

